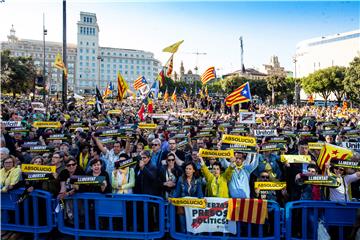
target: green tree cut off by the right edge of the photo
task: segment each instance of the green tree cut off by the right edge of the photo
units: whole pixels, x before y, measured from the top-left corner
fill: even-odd
[[[344,89],[351,101],[360,103],[360,57],[355,57],[345,70]]]

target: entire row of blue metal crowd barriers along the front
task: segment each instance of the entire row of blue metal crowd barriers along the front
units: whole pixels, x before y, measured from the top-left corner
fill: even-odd
[[[80,237],[156,239],[317,239],[319,222],[332,239],[345,239],[356,223],[360,202],[296,201],[285,208],[268,203],[264,225],[236,223],[236,234],[181,232],[176,208],[160,197],[136,194],[78,193],[64,200],[55,216],[56,200],[41,190],[17,203],[24,189],[1,194],[1,229],[34,234],[53,228]],[[169,234],[169,235],[165,235]]]

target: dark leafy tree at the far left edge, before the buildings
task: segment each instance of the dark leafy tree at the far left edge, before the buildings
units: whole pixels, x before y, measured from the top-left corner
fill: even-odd
[[[36,68],[30,57],[10,56],[10,50],[1,52],[1,89],[3,92],[29,93],[34,87]]]

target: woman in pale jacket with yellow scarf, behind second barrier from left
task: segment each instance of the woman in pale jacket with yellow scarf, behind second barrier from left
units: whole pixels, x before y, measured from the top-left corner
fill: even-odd
[[[126,153],[122,153],[119,156],[119,161],[115,162],[115,169],[112,172],[112,189],[113,193],[118,194],[130,194],[133,192],[135,186],[135,172],[132,167],[120,167],[121,163],[129,160],[129,156]]]

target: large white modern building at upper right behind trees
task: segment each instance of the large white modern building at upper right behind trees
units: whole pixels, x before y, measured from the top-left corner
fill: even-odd
[[[360,56],[360,29],[301,41],[294,57],[297,78],[306,77],[319,69],[349,66]]]

